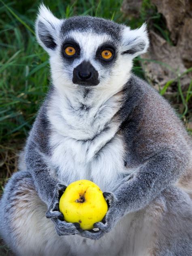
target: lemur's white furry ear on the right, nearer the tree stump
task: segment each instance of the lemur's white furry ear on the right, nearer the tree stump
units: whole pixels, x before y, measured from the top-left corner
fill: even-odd
[[[122,54],[129,54],[132,57],[144,53],[149,46],[149,38],[147,34],[147,25],[143,23],[141,28],[130,30],[125,27],[122,36]]]

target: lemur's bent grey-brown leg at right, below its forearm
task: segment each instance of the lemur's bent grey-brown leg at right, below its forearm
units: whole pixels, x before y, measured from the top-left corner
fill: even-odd
[[[126,247],[119,256],[191,256],[192,201],[174,187],[167,188],[145,209],[134,214]]]

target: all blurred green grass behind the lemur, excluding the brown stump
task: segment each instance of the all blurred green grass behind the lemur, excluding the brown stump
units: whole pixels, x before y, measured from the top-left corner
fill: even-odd
[[[62,18],[92,15],[125,23],[131,28],[137,28],[147,21],[171,44],[166,24],[149,0],[143,0],[140,17],[137,19],[123,15],[120,11],[122,0],[43,2],[57,17]],[[0,0],[0,191],[11,174],[17,171],[18,152],[24,145],[50,83],[48,55],[36,43],[34,34],[34,20],[40,3],[39,0]],[[133,71],[145,79],[141,61],[141,57],[134,61]],[[192,68],[187,73],[190,71]],[[192,116],[188,107],[192,99],[192,81],[183,91],[178,74],[175,73],[178,88],[172,103],[183,122],[188,123]],[[160,89],[160,94],[164,95],[172,83],[172,80],[167,81]],[[8,255],[9,250],[3,245],[0,253]]]

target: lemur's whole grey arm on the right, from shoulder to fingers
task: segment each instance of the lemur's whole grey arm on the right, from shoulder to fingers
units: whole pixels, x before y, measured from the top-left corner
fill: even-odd
[[[155,96],[153,97],[151,92],[149,97]],[[153,102],[146,96],[146,101],[142,100],[131,119],[125,122],[126,160],[128,166],[138,166],[137,171],[125,177],[114,193],[104,193],[110,207],[104,221],[94,225],[99,231],[83,232],[82,236],[91,239],[102,237],[124,215],[147,206],[162,190],[174,184],[185,171],[189,148],[186,140],[180,135],[184,129],[179,130],[179,121],[171,109],[167,109],[167,103],[158,102],[157,97],[157,104],[151,107],[147,104]]]

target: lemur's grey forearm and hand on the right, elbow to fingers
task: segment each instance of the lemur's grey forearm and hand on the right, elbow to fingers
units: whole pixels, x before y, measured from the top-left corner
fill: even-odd
[[[164,188],[174,183],[185,168],[186,151],[166,149],[151,157],[132,179],[122,183],[115,193],[104,193],[109,210],[102,222],[94,224],[96,233],[81,235],[98,239],[109,232],[125,214],[138,211],[149,204]]]

